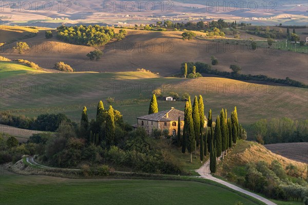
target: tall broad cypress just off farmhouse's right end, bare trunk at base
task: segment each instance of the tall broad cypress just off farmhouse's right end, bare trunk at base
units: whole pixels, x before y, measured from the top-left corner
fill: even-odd
[[[189,100],[186,101],[185,107],[188,108],[186,112],[186,121],[184,122],[184,125],[186,125],[186,146],[188,152],[190,153],[190,162],[192,162],[192,152],[195,150],[196,141],[194,132],[194,121],[192,120],[192,108],[191,104],[189,103]]]

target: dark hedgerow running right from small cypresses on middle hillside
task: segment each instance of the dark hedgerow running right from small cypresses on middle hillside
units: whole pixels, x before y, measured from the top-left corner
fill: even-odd
[[[308,85],[305,85],[301,83],[300,81],[293,80],[289,77],[286,77],[285,79],[280,78],[272,78],[268,77],[266,75],[251,75],[251,74],[240,74],[235,72],[226,72],[226,71],[218,71],[217,69],[212,69],[210,65],[201,63],[201,62],[188,62],[187,63],[187,71],[189,73],[189,70],[192,70],[192,68],[196,66],[196,71],[204,74],[213,74],[213,75],[219,75],[223,77],[227,77],[230,79],[237,79],[237,80],[256,80],[256,81],[263,81],[267,83],[279,83],[284,84],[288,86],[298,87],[298,88],[308,88]],[[184,67],[185,63],[181,64],[181,71],[184,75]]]

